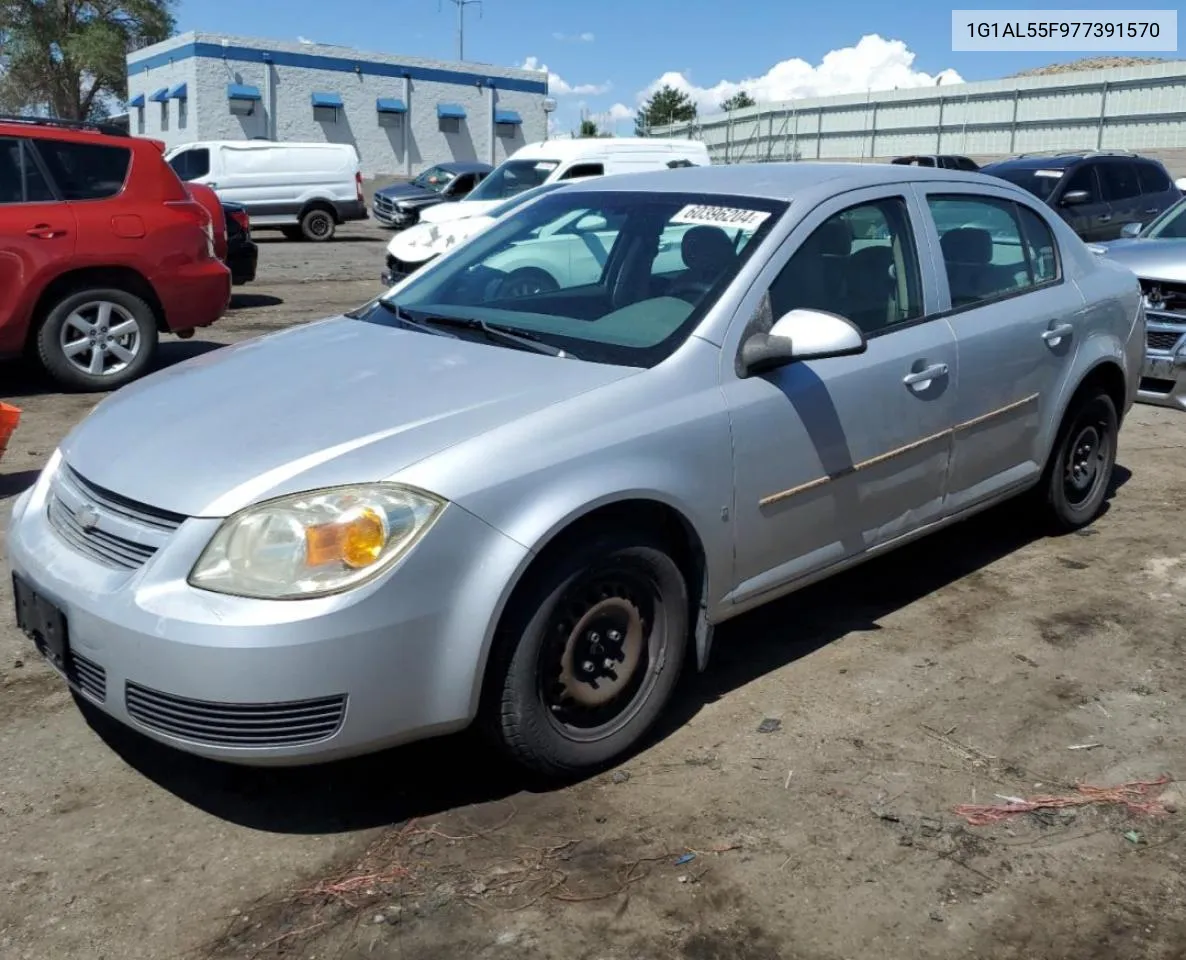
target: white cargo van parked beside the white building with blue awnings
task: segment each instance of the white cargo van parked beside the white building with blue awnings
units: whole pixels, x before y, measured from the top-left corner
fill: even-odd
[[[289,240],[331,240],[334,227],[366,220],[358,152],[350,144],[202,140],[165,159],[183,180],[247,208],[253,229]]]

